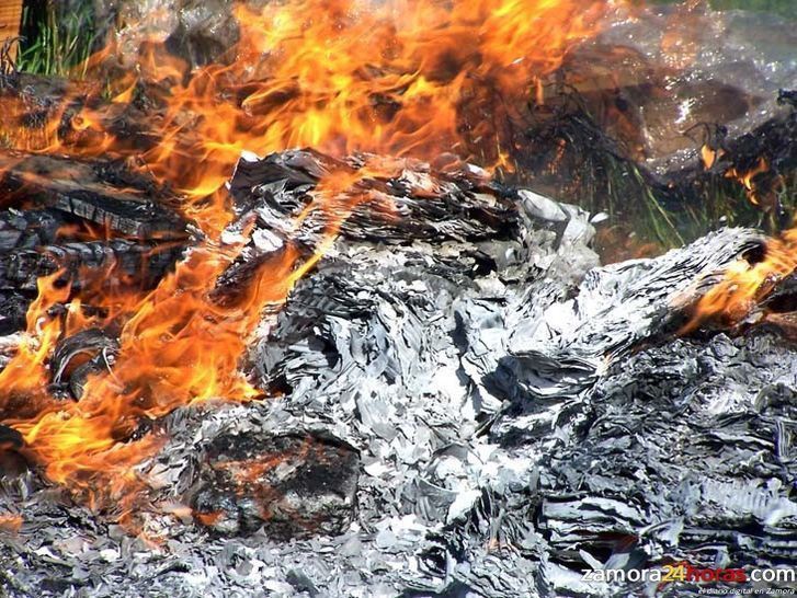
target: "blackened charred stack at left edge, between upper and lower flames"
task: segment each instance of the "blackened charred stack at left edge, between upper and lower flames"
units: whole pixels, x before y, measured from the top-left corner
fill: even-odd
[[[174,195],[118,161],[0,152],[0,192],[3,334],[24,327],[41,277],[152,288],[195,237]]]

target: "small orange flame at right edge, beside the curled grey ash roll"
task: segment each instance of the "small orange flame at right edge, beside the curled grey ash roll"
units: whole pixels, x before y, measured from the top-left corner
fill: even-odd
[[[694,308],[692,320],[682,334],[697,329],[709,320],[721,319],[735,325],[752,310],[775,286],[797,268],[797,228],[766,243],[764,258],[754,264],[739,260],[731,264],[721,281],[711,287]]]

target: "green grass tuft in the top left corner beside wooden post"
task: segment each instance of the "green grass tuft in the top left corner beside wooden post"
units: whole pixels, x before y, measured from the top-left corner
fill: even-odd
[[[57,0],[33,11],[25,8],[23,31],[32,32],[20,45],[16,68],[23,72],[44,76],[86,77],[86,60],[91,56],[96,36],[93,33],[91,0],[72,2],[62,10]]]

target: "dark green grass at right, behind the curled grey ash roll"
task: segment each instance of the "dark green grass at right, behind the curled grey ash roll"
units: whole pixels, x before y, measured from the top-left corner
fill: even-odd
[[[538,161],[519,164],[506,182],[531,186],[554,197],[582,206],[591,214],[606,212],[604,226],[612,229],[606,243],[601,243],[615,256],[627,257],[642,253],[659,253],[682,246],[708,230],[721,226],[744,226],[776,233],[792,226],[792,215],[797,205],[797,170],[787,169],[779,192],[782,209],[764,209],[755,206],[736,180],[720,173],[695,172],[682,183],[663,185],[651,181],[631,161],[610,151],[608,140],[595,137],[596,127],[589,124],[589,115],[582,114],[573,122],[565,120],[553,135],[537,136],[530,133],[532,146],[526,154]],[[558,141],[566,141],[566,158],[559,174],[546,174]],[[629,241],[627,251],[617,246]],[[653,251],[654,249],[654,251]]]

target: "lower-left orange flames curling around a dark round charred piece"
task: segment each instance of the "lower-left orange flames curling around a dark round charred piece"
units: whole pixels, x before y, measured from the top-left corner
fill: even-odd
[[[287,249],[267,263],[251,284],[250,295],[231,306],[217,304],[208,294],[231,263],[239,246],[200,246],[152,292],[136,304],[113,295],[93,298],[123,320],[122,349],[112,370],[89,379],[78,402],[48,395],[47,357],[62,333],[107,325],[109,317],[88,318],[73,300],[65,318],[52,308],[66,302],[69,288],[59,274],[39,281],[39,298],[29,313],[27,340],[0,372],[0,410],[22,433],[50,480],[88,486],[99,472],[124,480],[129,468],[157,449],[150,436],[121,444],[139,422],[155,419],[181,405],[213,399],[247,401],[260,396],[238,371],[246,337],[263,306],[284,301],[295,281],[315,263],[297,262]],[[21,399],[24,398],[24,399]],[[18,402],[34,407],[20,407]],[[9,409],[9,407],[14,409]],[[84,479],[84,476],[87,476]],[[123,484],[124,485],[124,484]]]

